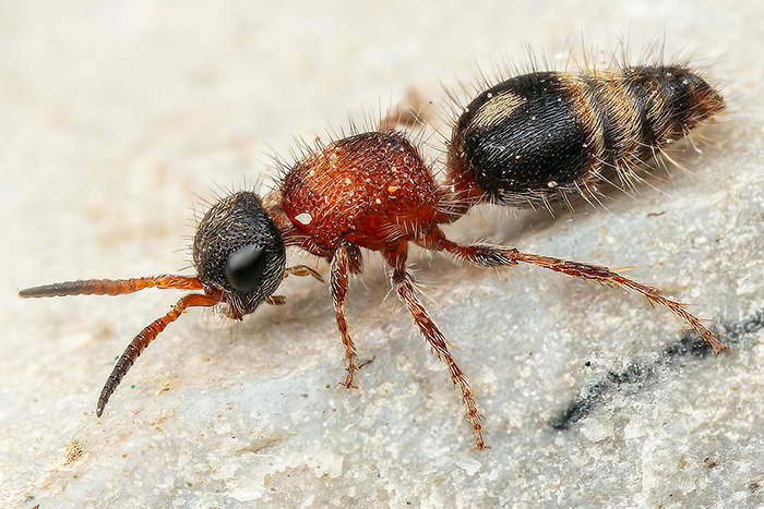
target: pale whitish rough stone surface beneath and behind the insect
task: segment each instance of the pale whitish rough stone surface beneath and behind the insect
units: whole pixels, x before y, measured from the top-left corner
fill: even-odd
[[[764,504],[764,7],[276,3],[0,7],[0,505]],[[557,58],[580,34],[606,53],[622,37],[638,56],[662,33],[666,53],[692,56],[729,100],[704,154],[678,155],[687,171],[656,172],[635,197],[611,192],[607,210],[485,208],[450,231],[636,266],[716,325],[731,347],[716,359],[624,291],[421,256],[427,305],[486,412],[491,449],[474,451],[444,366],[385,300],[372,256],[350,289],[353,334],[373,360],[358,391],[337,385],[326,288],[289,278],[287,305],[243,324],[188,313],[96,419],[114,359],[177,293],[15,295],[180,269],[192,203],[268,182],[266,154],[288,158],[293,136],[326,138],[348,113],[379,116],[407,87],[447,119],[440,82],[527,62],[523,41]],[[435,157],[442,138],[427,143]]]

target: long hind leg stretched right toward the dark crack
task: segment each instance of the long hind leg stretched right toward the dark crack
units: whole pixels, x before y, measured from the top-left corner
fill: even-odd
[[[727,347],[719,341],[716,332],[708,330],[701,323],[700,318],[688,313],[683,305],[679,302],[671,301],[660,295],[659,290],[647,284],[634,281],[629,278],[613,272],[607,267],[597,265],[580,264],[577,262],[569,262],[566,259],[552,258],[550,256],[540,256],[529,253],[521,253],[520,251],[501,245],[491,244],[473,244],[458,245],[444,238],[440,240],[441,247],[449,253],[456,255],[471,264],[480,267],[500,267],[503,265],[516,265],[522,262],[525,264],[536,265],[537,267],[547,268],[557,272],[566,274],[575,278],[588,279],[607,284],[614,284],[626,290],[636,292],[649,301],[650,304],[659,304],[668,308],[677,317],[684,320],[692,327],[701,337],[708,342],[718,355]]]

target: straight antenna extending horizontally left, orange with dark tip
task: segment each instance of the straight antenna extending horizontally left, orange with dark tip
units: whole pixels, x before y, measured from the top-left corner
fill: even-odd
[[[196,277],[164,274],[162,276],[135,279],[87,279],[57,282],[21,290],[19,296],[28,299],[64,295],[123,295],[153,287],[160,289],[201,290],[202,283],[199,282]]]

